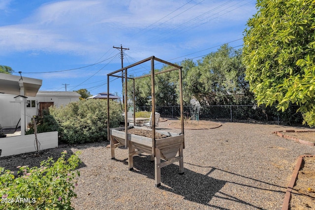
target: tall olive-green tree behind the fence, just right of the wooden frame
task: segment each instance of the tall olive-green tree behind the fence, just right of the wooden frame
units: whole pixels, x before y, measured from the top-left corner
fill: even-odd
[[[197,60],[197,65],[188,71],[185,98],[194,96],[201,105],[236,103],[236,95],[248,93],[244,72],[241,51],[222,45],[217,52]]]

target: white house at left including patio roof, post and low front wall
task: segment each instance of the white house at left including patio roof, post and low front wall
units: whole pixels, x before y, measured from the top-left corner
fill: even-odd
[[[0,123],[2,123],[2,126],[16,126],[20,121],[21,125],[21,136],[0,138],[1,156],[58,147],[57,131],[39,133],[37,138],[35,134],[25,135],[24,132],[27,121],[31,119],[29,117],[37,113],[41,101],[43,103],[49,101],[60,106],[74,100],[64,94],[54,95],[47,94],[47,92],[37,98],[39,97],[37,92],[41,85],[42,80],[39,79],[0,73]],[[79,96],[77,99],[79,99]],[[36,139],[36,147],[34,139]]]

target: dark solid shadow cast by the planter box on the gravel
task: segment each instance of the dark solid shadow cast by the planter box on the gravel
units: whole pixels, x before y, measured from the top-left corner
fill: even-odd
[[[133,156],[133,161],[134,172],[155,179],[154,162],[150,161],[150,155]],[[162,185],[159,188],[181,195],[185,200],[206,206],[212,206],[209,202],[226,183],[186,168],[183,175],[179,175],[178,172],[178,165],[171,164],[163,167],[161,169]]]

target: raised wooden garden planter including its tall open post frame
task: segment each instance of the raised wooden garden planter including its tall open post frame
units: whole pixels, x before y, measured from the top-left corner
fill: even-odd
[[[142,75],[138,77],[129,77],[127,76],[128,69],[134,66],[137,66],[141,63],[151,61],[151,72],[147,75]],[[171,68],[165,69],[163,71],[155,71],[155,62],[164,63]],[[179,84],[179,91],[180,91],[180,114],[181,114],[181,134],[177,133],[170,133],[166,131],[156,130],[156,104],[155,104],[155,75],[166,73],[169,71],[178,70],[178,84]],[[109,103],[109,94],[107,94],[107,137],[110,140],[110,147],[111,147],[111,157],[112,159],[115,158],[115,148],[119,146],[125,146],[128,148],[128,166],[129,170],[133,169],[133,156],[136,154],[140,154],[146,152],[151,155],[151,161],[155,161],[155,184],[156,186],[160,186],[161,182],[161,168],[172,164],[174,162],[179,161],[179,173],[184,173],[184,160],[183,160],[183,149],[185,148],[185,141],[184,141],[184,108],[183,108],[183,87],[182,87],[182,67],[170,63],[166,60],[161,60],[156,58],[155,56],[149,57],[144,60],[140,60],[134,64],[128,65],[126,67],[122,67],[119,70],[113,71],[107,74],[107,92],[109,93],[109,84],[110,84],[110,76],[116,78],[122,78],[123,87],[125,88],[124,91],[124,98],[123,103],[125,104],[125,116],[128,116],[128,103],[124,101],[128,101],[128,82],[133,83],[133,97],[132,97],[132,104],[133,104],[133,121],[135,122],[135,80],[144,78],[144,77],[151,77],[151,101],[152,101],[152,129],[144,128],[144,127],[137,127],[134,126],[134,129],[138,130],[149,130],[151,131],[151,137],[147,136],[139,136],[134,135],[128,132],[128,129],[131,127],[128,126],[128,118],[125,118],[125,127],[119,128],[110,128],[110,103]],[[129,130],[130,131],[130,130]],[[156,134],[165,134],[165,138],[157,138]],[[162,160],[162,161],[161,161]]]

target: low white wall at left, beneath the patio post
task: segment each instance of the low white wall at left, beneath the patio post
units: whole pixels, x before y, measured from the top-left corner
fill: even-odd
[[[58,147],[58,131],[38,133],[40,150]],[[12,136],[0,138],[1,157],[36,151],[35,135]]]

